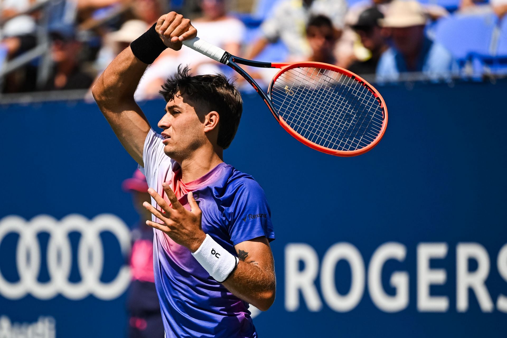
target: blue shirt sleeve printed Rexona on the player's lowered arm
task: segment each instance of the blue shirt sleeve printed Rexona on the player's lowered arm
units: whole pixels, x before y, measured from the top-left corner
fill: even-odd
[[[225,215],[232,243],[236,245],[263,236],[274,240],[271,210],[259,183],[253,179],[241,180],[232,194],[234,200]]]

